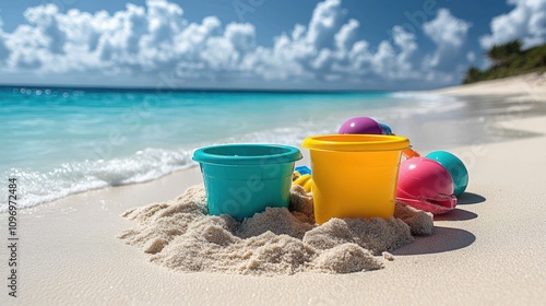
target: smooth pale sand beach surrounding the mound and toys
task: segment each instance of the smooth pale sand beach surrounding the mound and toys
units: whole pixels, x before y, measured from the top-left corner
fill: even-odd
[[[435,93],[539,102],[545,82],[524,75]],[[7,294],[2,263],[0,305],[543,305],[546,117],[495,123],[536,136],[450,148],[468,168],[466,193],[454,211],[436,217],[432,236],[393,251],[384,269],[251,276],[174,272],[149,262],[149,255],[117,238],[133,226],[120,214],[200,184],[193,167],[20,211],[19,297]],[[2,228],[7,220],[0,214]],[[0,258],[9,258],[8,248],[0,248]]]

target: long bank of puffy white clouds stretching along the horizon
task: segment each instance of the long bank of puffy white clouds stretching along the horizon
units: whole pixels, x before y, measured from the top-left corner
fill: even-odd
[[[75,9],[62,13],[54,4],[38,5],[25,12],[26,24],[12,33],[0,31],[0,60],[2,42],[8,57],[0,74],[25,72],[48,80],[110,75],[124,78],[127,84],[139,79],[155,85],[158,74],[170,71],[186,86],[209,87],[252,83],[392,89],[423,86],[424,78],[432,86],[458,81],[447,66],[463,46],[470,24],[448,10],[439,10],[424,25],[437,45],[431,55],[423,55],[416,35],[402,26],[392,28],[391,42],[370,46],[357,37],[359,22],[346,21],[345,15],[340,0],[325,0],[317,4],[307,25],[296,24],[288,34],[274,37],[272,47],[263,47],[257,44],[252,24],[223,25],[216,16],[190,23],[182,8],[166,0],[127,4],[112,14]],[[422,66],[427,56],[434,64]]]

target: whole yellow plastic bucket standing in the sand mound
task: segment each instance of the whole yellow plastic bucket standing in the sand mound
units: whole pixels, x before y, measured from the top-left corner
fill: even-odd
[[[330,134],[309,137],[314,220],[331,217],[389,219],[395,191],[404,137]]]

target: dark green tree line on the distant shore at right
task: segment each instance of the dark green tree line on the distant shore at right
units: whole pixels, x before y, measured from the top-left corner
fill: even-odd
[[[491,61],[491,67],[487,70],[471,67],[463,84],[546,71],[546,44],[526,50],[521,47],[519,39],[492,46],[485,54]]]

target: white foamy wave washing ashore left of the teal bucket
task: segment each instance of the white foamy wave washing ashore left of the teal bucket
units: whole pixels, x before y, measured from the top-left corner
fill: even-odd
[[[17,205],[29,208],[72,193],[158,178],[194,165],[191,153],[191,150],[146,149],[123,158],[63,163],[47,172],[12,168],[4,177],[17,179]],[[7,199],[7,192],[0,190],[0,198]],[[0,212],[7,209],[7,203],[0,204]]]

